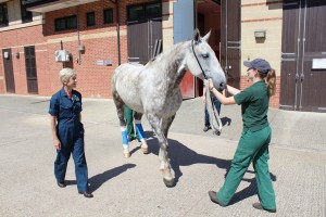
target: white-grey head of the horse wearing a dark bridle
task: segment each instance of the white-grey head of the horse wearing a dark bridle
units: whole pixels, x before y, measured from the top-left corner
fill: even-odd
[[[226,78],[215,52],[208,43],[211,31],[201,38],[199,31],[195,31],[193,40],[191,40],[191,52],[186,64],[192,75],[201,79],[211,78],[214,87],[222,91],[226,86]]]

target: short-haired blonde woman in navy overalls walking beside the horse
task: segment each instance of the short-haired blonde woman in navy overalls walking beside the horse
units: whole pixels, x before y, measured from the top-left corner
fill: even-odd
[[[60,188],[64,188],[66,166],[71,154],[75,163],[78,193],[92,197],[88,191],[88,173],[84,149],[84,126],[80,123],[82,94],[74,90],[76,72],[63,68],[59,73],[62,89],[54,93],[50,101],[51,130],[53,145],[57,149],[54,175]]]

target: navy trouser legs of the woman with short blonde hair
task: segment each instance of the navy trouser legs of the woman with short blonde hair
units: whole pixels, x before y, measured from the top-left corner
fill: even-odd
[[[77,189],[78,191],[88,191],[88,171],[84,151],[84,132],[80,133],[77,138],[71,139],[67,133],[61,136],[63,137],[59,137],[61,141],[61,150],[57,151],[57,158],[54,162],[54,176],[58,181],[64,181],[67,163],[72,154],[75,163]]]

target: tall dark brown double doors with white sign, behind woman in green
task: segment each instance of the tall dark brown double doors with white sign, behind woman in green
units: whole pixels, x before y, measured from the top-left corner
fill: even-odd
[[[284,2],[280,107],[326,112],[326,2]]]

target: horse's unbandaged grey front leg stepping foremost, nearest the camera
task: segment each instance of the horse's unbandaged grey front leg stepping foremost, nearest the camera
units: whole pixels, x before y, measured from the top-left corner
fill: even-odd
[[[163,181],[166,187],[174,187],[175,174],[170,164],[168,151],[167,151],[168,142],[167,142],[167,138],[164,135],[164,129],[162,128],[165,125],[163,124],[162,119],[160,119],[159,117],[156,117],[152,114],[147,114],[147,118],[148,118],[149,123],[151,124],[153,130],[155,131],[156,138],[159,140],[160,170],[161,170],[161,173],[163,173]]]

